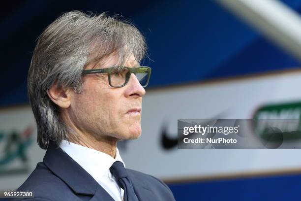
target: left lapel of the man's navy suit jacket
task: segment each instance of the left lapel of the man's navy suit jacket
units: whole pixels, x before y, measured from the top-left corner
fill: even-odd
[[[95,179],[55,143],[50,142],[44,164],[78,195],[91,196],[91,201],[114,201]]]

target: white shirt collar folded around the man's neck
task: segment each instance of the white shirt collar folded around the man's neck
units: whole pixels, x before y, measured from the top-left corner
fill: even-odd
[[[96,181],[104,175],[111,177],[109,169],[116,161],[122,162],[125,167],[117,147],[115,158],[106,153],[68,142],[67,140],[61,141],[60,148],[83,167]]]

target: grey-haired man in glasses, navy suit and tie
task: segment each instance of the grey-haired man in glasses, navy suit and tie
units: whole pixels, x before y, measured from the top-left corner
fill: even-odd
[[[141,134],[145,52],[133,25],[105,14],[68,12],[47,27],[28,75],[47,151],[17,191],[32,191],[29,201],[174,201],[162,181],[125,169],[116,147]]]

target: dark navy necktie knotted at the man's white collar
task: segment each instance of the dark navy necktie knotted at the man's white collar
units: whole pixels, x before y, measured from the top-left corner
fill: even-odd
[[[120,161],[116,161],[111,167],[110,171],[117,180],[120,188],[124,190],[123,201],[138,201],[135,195],[133,185],[128,179],[127,172]]]

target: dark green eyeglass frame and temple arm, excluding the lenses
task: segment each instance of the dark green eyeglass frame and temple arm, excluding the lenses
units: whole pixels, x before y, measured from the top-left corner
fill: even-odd
[[[147,77],[147,82],[144,86],[142,87],[146,87],[149,84],[150,81],[150,77],[151,77],[151,67],[122,67],[128,69],[128,71],[125,74],[125,82],[124,84],[120,85],[120,86],[113,86],[111,84],[111,74],[118,72],[120,67],[108,67],[108,68],[99,68],[99,69],[89,69],[89,70],[84,70],[83,73],[86,74],[96,74],[96,73],[108,73],[108,77],[109,77],[109,85],[111,87],[114,88],[119,88],[119,87],[123,87],[128,83],[128,80],[131,76],[132,73],[134,73],[134,75],[136,75],[136,73],[141,72],[141,70],[144,70],[145,72],[148,73],[148,77]],[[138,80],[140,83],[140,80]]]

